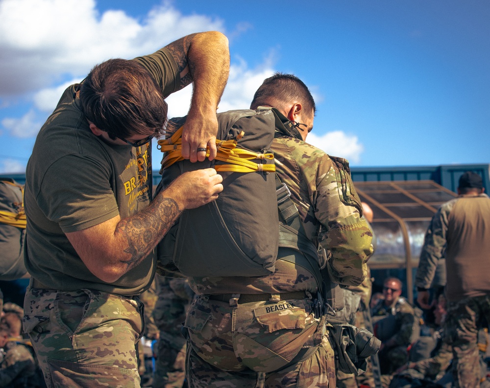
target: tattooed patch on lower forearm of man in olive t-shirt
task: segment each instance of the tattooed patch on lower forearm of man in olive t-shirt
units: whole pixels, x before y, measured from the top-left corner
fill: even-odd
[[[121,263],[127,269],[138,265],[169,231],[181,213],[174,200],[162,198],[160,201],[155,200],[146,211],[121,220],[116,234],[122,235],[124,241],[127,241],[127,248],[123,251],[130,257],[127,260],[121,258]]]

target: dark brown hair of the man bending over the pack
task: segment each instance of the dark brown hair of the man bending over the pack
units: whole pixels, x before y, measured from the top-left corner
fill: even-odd
[[[95,66],[82,82],[80,100],[85,116],[112,139],[164,132],[163,91],[136,61],[110,59]]]

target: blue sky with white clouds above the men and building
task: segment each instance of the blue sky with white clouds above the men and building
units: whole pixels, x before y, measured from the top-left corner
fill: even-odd
[[[290,72],[317,102],[308,141],[352,166],[490,163],[489,20],[486,0],[0,0],[0,172],[24,171],[61,92],[95,64],[206,30],[230,41],[220,111]]]

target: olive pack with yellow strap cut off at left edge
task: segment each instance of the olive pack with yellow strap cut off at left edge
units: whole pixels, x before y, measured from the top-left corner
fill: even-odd
[[[24,186],[0,178],[0,280],[24,276]]]

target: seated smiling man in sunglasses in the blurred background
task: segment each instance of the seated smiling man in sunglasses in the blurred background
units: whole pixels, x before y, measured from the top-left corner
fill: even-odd
[[[410,344],[420,334],[414,308],[401,297],[402,283],[389,277],[383,286],[384,299],[372,309],[374,335],[381,340],[378,352],[382,374],[391,374],[408,361]]]

